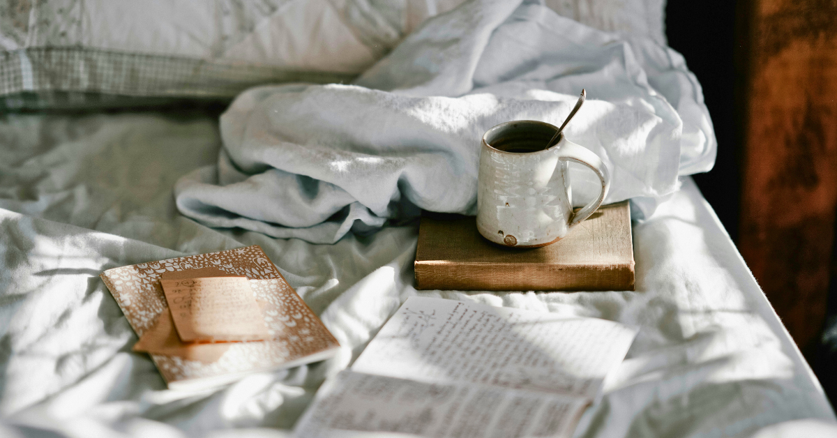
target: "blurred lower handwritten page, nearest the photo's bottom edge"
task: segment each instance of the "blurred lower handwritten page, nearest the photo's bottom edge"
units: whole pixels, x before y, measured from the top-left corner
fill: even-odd
[[[295,436],[569,437],[587,405],[561,394],[342,371],[317,392]]]

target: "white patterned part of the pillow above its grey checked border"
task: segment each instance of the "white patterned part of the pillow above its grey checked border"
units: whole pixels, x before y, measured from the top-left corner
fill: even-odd
[[[358,74],[463,1],[0,0],[0,50],[70,47]],[[593,28],[665,44],[664,0],[546,4]]]

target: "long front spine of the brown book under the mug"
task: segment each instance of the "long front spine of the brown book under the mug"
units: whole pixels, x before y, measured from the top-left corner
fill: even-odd
[[[634,263],[504,265],[415,262],[416,289],[454,291],[633,291]]]

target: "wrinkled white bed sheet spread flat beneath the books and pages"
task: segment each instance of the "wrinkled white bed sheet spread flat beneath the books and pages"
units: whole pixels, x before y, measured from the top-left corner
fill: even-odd
[[[407,296],[639,327],[577,437],[837,435],[837,420],[690,178],[634,224],[636,291],[415,291],[413,225],[335,245],[208,229],[177,178],[213,162],[205,116],[0,117],[0,435],[282,437]],[[165,389],[98,275],[261,245],[339,339],[338,357],[199,393]]]

